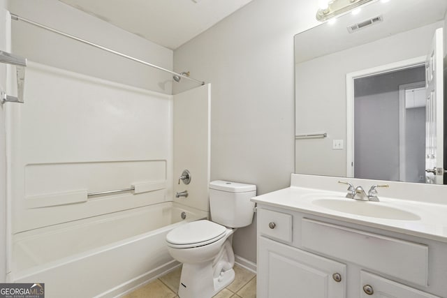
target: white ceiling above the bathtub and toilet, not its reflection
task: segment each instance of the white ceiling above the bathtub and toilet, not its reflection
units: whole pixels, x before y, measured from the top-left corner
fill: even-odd
[[[59,0],[175,50],[252,0]]]

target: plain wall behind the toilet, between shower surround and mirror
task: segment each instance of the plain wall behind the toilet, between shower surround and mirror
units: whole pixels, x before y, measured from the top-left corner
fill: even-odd
[[[317,1],[254,0],[174,52],[176,71],[212,83],[211,180],[290,184],[294,170],[293,36],[313,27]],[[174,85],[174,93],[184,85]],[[256,220],[235,233],[256,262]]]

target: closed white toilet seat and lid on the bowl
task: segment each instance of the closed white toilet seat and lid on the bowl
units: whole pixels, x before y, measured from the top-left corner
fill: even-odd
[[[192,221],[173,229],[166,235],[168,246],[193,248],[212,244],[225,236],[227,228],[212,221]]]

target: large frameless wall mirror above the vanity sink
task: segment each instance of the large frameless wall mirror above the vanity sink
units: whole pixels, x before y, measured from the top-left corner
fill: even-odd
[[[430,148],[444,135],[425,132],[444,124],[434,122],[431,101],[410,102],[414,94],[443,96],[439,81],[431,95],[425,85],[439,70],[430,53],[437,29],[446,27],[446,10],[445,0],[374,1],[295,36],[296,173],[442,184],[444,175],[440,181],[435,174],[439,163],[444,167],[444,144],[438,155]],[[438,49],[441,74],[444,53]]]

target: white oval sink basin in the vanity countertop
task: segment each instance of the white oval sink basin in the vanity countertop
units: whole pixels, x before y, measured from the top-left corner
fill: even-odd
[[[312,204],[334,211],[369,216],[375,218],[395,219],[400,221],[418,221],[420,217],[409,211],[389,207],[380,202],[366,202],[352,199],[319,198],[312,200]]]

